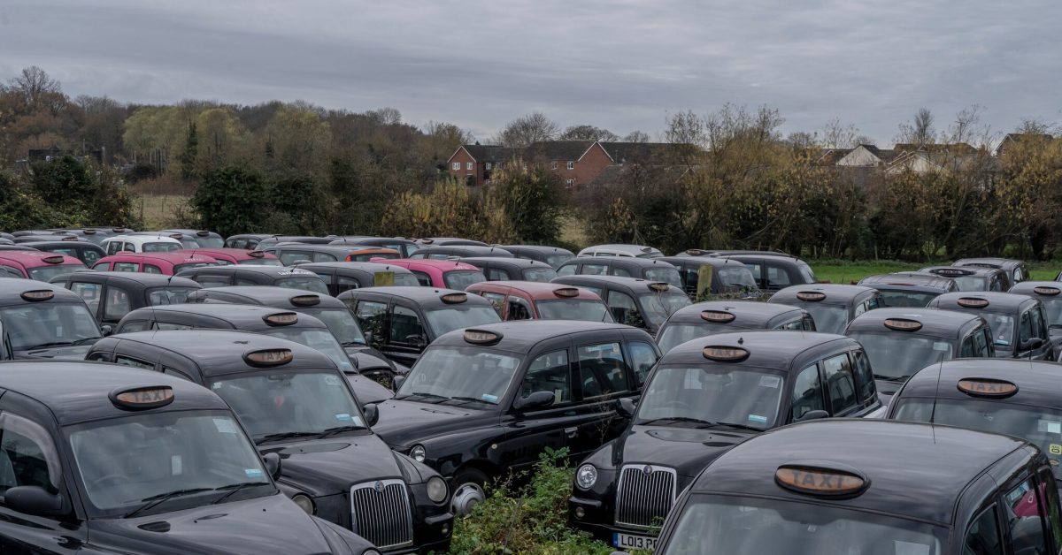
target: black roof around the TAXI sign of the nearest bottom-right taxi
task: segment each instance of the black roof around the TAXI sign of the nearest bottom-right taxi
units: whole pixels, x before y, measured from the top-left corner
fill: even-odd
[[[1022,439],[961,428],[837,418],[764,432],[713,462],[695,492],[767,496],[807,502],[774,481],[785,464],[815,461],[854,468],[870,479],[861,495],[823,501],[949,524],[966,486],[998,461],[1029,446]],[[946,469],[946,471],[942,471]]]

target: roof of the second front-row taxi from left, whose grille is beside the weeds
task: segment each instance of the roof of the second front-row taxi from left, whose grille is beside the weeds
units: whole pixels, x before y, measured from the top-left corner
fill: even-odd
[[[219,376],[254,369],[243,354],[264,349],[289,349],[294,359],[284,366],[267,369],[336,368],[336,363],[321,351],[305,345],[261,333],[230,330],[136,331],[104,337],[92,350],[108,348],[108,343],[131,342],[154,345],[193,361],[203,376]],[[102,347],[97,349],[97,346]]]

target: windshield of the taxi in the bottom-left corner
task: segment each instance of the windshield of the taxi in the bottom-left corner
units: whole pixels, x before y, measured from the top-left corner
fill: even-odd
[[[239,499],[275,491],[228,411],[143,413],[69,427],[67,436],[95,517],[123,516],[179,490],[202,489],[142,514],[212,503],[240,484],[262,487]]]

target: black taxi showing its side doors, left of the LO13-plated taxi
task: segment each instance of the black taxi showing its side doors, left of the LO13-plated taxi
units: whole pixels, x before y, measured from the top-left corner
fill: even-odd
[[[529,320],[476,326],[435,340],[374,430],[446,476],[467,514],[483,485],[526,470],[545,448],[578,459],[626,427],[617,399],[638,395],[660,351],[617,324]]]

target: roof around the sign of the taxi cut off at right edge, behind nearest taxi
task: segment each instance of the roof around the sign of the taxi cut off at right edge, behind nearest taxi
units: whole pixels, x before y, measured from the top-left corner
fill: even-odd
[[[933,364],[914,372],[897,398],[973,399],[975,397],[957,387],[959,380],[967,378],[1001,380],[1017,385],[1017,393],[1009,397],[976,397],[979,400],[1062,409],[1058,386],[1059,365],[1022,359],[954,359]]]

